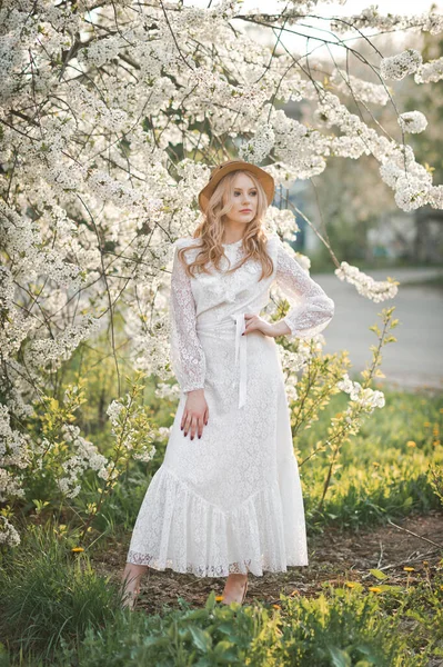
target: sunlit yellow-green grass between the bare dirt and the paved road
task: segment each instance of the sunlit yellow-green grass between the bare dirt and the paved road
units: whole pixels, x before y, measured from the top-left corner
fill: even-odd
[[[345,442],[338,459],[321,512],[316,511],[329,467],[329,451],[300,466],[309,530],[325,525],[359,530],[412,511],[441,507],[430,484],[431,464],[443,464],[441,432],[443,397],[384,389],[386,405],[376,409],[360,434]],[[302,462],[311,448],[324,441],[329,420],[345,407],[338,395],[303,431],[295,445]]]

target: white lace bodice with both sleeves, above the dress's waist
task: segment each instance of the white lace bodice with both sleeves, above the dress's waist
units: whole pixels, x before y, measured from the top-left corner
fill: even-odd
[[[290,339],[320,334],[332,319],[334,301],[302,269],[278,235],[268,239],[268,252],[274,270],[261,281],[261,265],[256,260],[248,260],[230,275],[224,272],[224,268],[230,268],[231,262],[235,263],[242,257],[241,240],[223,246],[225,257],[220,271],[212,267],[210,275],[187,276],[178,258],[178,249],[195,242],[197,239],[191,237],[175,241],[171,276],[170,356],[182,391],[204,387],[207,362],[197,322],[217,325],[235,312],[260,313],[269,302],[269,292],[274,282],[291,305],[283,318],[291,330],[288,334]],[[187,261],[192,261],[198,251],[187,252]]]

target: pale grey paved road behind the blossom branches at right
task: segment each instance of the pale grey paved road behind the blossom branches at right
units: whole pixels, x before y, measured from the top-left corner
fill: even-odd
[[[400,281],[394,299],[374,303],[360,296],[355,288],[333,275],[312,275],[335,301],[335,316],[324,335],[325,352],[348,349],[352,368],[350,376],[362,380],[359,374],[372,359],[370,345],[377,340],[369,327],[379,323],[377,312],[395,306],[394,317],[400,320],[392,334],[397,342],[382,348],[381,369],[390,386],[409,389],[429,387],[443,390],[443,289],[430,286],[402,286],[406,280],[426,280],[442,275],[441,269],[386,269],[366,271],[375,280],[392,276]]]

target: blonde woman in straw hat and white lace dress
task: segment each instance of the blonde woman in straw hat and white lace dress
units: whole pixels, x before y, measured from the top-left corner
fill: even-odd
[[[133,529],[123,573],[134,606],[148,566],[226,576],[243,603],[248,571],[308,565],[304,507],[276,336],[310,338],[334,302],[264,232],[274,181],[230,160],[199,196],[203,221],[175,242],[171,362],[181,388],[164,456]],[[260,317],[276,281],[291,309]],[[123,588],[123,587],[122,587]]]

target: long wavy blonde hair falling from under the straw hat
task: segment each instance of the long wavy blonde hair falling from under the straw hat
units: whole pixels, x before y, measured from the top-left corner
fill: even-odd
[[[231,273],[240,268],[250,257],[258,259],[262,265],[260,280],[271,276],[273,271],[273,261],[266,252],[266,235],[263,229],[264,216],[268,208],[266,195],[260,185],[260,181],[253,173],[244,169],[238,169],[226,173],[217,185],[203,213],[203,221],[197,227],[192,238],[199,239],[201,242],[193,246],[187,246],[178,250],[179,259],[184,263],[188,276],[194,276],[197,271],[210,273],[207,268],[208,262],[212,262],[215,269],[220,268],[220,260],[223,257],[224,250],[222,246],[223,238],[223,217],[229,213],[232,208],[230,199],[223,206],[225,195],[232,195],[233,180],[239,173],[244,173],[253,181],[258,192],[256,213],[254,218],[245,225],[243,235],[243,249],[245,250],[244,258],[238,266],[229,269],[226,273]],[[200,252],[195,261],[185,262],[183,255],[187,250],[200,248]]]

